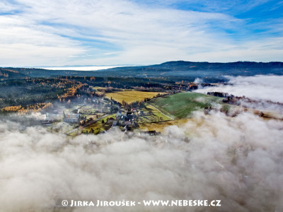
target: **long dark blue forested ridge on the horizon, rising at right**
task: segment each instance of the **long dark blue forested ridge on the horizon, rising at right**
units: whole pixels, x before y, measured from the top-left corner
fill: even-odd
[[[152,66],[119,67],[108,69],[110,74],[123,76],[183,76],[221,78],[223,75],[254,76],[256,74],[283,74],[283,62],[250,62],[237,61],[231,63],[209,63],[191,61],[168,61]],[[101,72],[101,71],[100,71]],[[106,73],[106,72],[105,72]],[[102,73],[101,73],[102,74]]]

